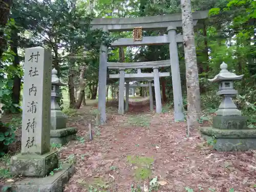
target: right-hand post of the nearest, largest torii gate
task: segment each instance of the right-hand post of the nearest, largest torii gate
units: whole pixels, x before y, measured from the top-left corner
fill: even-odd
[[[168,27],[170,68],[172,70],[173,94],[174,94],[174,120],[184,121],[179,55],[176,42],[176,27]]]

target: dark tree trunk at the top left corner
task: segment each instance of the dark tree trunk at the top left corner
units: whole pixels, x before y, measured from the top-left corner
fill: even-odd
[[[2,0],[0,2],[0,63],[3,53],[6,50],[6,39],[4,38],[4,28],[8,22],[10,9],[12,6],[11,0]]]

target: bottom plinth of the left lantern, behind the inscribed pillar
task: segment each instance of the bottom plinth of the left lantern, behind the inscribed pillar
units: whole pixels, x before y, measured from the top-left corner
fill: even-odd
[[[65,145],[71,140],[76,139],[76,132],[77,130],[75,127],[67,127],[59,130],[51,130],[50,143]]]

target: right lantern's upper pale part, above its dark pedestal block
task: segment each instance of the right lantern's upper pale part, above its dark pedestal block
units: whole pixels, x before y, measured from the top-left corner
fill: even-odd
[[[223,62],[221,64],[221,71],[213,79],[208,79],[210,82],[219,82],[219,91],[217,95],[222,95],[223,100],[219,106],[219,110],[216,112],[217,116],[241,116],[242,113],[237,109],[237,106],[233,103],[232,97],[238,94],[237,90],[234,90],[233,81],[240,80],[244,75],[236,75],[227,70],[227,64]]]

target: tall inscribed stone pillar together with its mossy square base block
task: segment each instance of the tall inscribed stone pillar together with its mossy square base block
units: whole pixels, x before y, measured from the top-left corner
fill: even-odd
[[[58,165],[50,151],[51,52],[41,47],[25,51],[22,150],[11,158],[12,175],[45,177]]]

